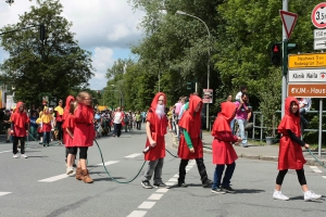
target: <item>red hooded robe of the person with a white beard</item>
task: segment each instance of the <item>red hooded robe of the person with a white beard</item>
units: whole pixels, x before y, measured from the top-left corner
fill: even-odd
[[[159,98],[164,97],[164,104],[166,105],[166,97],[163,92],[158,92],[151,103],[151,107],[147,113],[146,122],[150,123],[150,128],[152,132],[152,139],[156,142],[156,145],[152,148],[149,152],[145,154],[145,161],[156,161],[165,156],[165,139],[166,127],[167,127],[167,117],[164,115],[160,118],[156,114],[156,105],[159,103]],[[149,140],[146,140],[146,146],[149,146]]]

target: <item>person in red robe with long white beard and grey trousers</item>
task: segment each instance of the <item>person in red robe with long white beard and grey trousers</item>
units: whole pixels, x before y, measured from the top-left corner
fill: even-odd
[[[162,168],[165,157],[165,139],[167,117],[165,114],[166,97],[163,92],[155,94],[151,107],[146,118],[146,149],[145,159],[148,161],[148,167],[141,180],[141,186],[146,189],[168,188],[162,181]],[[154,174],[154,183],[151,186],[150,180]]]

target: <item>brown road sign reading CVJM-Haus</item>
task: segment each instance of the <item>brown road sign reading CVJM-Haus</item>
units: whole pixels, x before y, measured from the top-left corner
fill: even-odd
[[[288,84],[288,97],[326,98],[326,82],[323,84]]]

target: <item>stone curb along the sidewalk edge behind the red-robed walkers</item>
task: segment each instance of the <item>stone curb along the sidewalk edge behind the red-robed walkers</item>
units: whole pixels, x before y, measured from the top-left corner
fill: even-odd
[[[175,149],[178,149],[178,140],[175,138],[175,135],[173,132],[171,132],[172,135],[172,146]],[[203,153],[206,154],[212,154],[212,150],[206,149],[205,146],[203,148]],[[254,154],[238,154],[238,157],[242,157],[242,158],[249,158],[249,159],[261,159],[261,161],[269,161],[269,162],[277,162],[278,161],[278,156],[264,156],[264,155],[254,155]],[[305,158],[306,163],[305,165],[309,166],[321,166],[316,159],[314,158]],[[326,159],[319,159],[319,162],[326,166]]]

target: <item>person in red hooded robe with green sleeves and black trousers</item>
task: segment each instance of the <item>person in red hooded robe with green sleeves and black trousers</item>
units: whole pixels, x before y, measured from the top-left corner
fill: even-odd
[[[181,158],[179,165],[178,186],[187,187],[185,183],[186,166],[189,159],[196,159],[198,171],[201,177],[202,187],[211,187],[212,181],[208,177],[203,162],[203,146],[200,138],[202,101],[198,95],[190,95],[189,107],[184,112],[178,126],[183,129],[179,140],[178,156]]]

